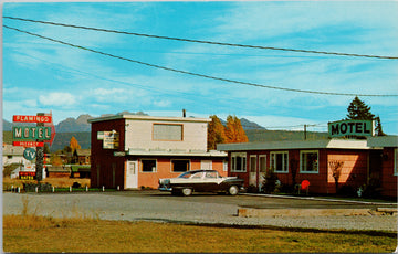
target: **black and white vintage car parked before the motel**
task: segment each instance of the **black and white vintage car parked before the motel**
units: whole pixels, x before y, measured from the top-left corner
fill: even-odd
[[[224,192],[235,195],[243,189],[243,179],[221,177],[216,170],[192,170],[177,178],[159,179],[160,191],[191,195],[192,192]]]

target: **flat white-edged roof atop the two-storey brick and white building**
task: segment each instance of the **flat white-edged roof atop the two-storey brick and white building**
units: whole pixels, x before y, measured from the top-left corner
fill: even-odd
[[[88,123],[98,123],[105,120],[117,120],[117,119],[127,119],[127,120],[161,120],[161,121],[195,121],[195,123],[210,123],[210,118],[196,118],[196,117],[171,117],[171,116],[143,116],[143,115],[113,115],[91,118]]]

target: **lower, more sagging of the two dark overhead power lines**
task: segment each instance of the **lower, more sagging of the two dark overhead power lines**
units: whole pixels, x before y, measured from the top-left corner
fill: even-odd
[[[280,89],[280,91],[296,92],[296,93],[308,93],[308,94],[322,94],[322,95],[363,96],[363,97],[397,97],[398,96],[398,95],[394,95],[394,94],[380,95],[380,94],[349,94],[349,93],[317,92],[317,91],[294,89],[294,88],[285,88],[285,87],[277,87],[277,86],[261,85],[261,84],[256,84],[256,83],[234,81],[234,80],[229,80],[229,78],[224,78],[224,77],[216,77],[216,76],[210,76],[210,75],[206,75],[206,74],[199,74],[199,73],[193,73],[193,72],[166,67],[166,66],[161,66],[161,65],[145,63],[145,62],[140,62],[140,61],[137,61],[137,60],[132,60],[132,59],[127,59],[127,57],[124,57],[124,56],[118,56],[118,55],[109,54],[109,53],[106,53],[106,52],[88,49],[88,47],[85,47],[85,46],[72,44],[72,43],[69,43],[69,42],[55,40],[55,39],[52,39],[52,38],[43,36],[43,35],[36,34],[36,33],[31,33],[31,32],[20,30],[20,29],[17,29],[17,28],[12,28],[12,27],[8,27],[8,25],[3,25],[3,28],[11,29],[11,30],[14,30],[14,31],[18,31],[18,32],[21,32],[21,33],[30,34],[30,35],[41,38],[41,39],[44,39],[44,40],[49,40],[49,41],[52,41],[52,42],[56,42],[56,43],[60,43],[60,44],[69,45],[69,46],[72,46],[72,47],[90,51],[90,52],[93,52],[93,53],[96,53],[96,54],[101,54],[101,55],[105,55],[105,56],[109,56],[109,57],[114,57],[114,59],[128,61],[128,62],[132,62],[132,63],[137,63],[137,64],[146,65],[146,66],[150,66],[150,67],[156,67],[156,68],[160,68],[160,70],[165,70],[165,71],[182,73],[182,74],[187,74],[187,75],[199,76],[199,77],[205,77],[205,78],[216,80],[216,81],[222,81],[222,82],[228,82],[228,83],[234,83],[234,84],[241,84],[241,85],[248,85],[248,86],[255,86],[255,87],[262,87],[262,88],[270,88],[270,89]]]

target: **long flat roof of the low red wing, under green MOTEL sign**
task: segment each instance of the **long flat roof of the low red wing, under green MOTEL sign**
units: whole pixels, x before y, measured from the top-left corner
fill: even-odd
[[[242,151],[242,150],[289,150],[289,149],[370,149],[367,140],[347,139],[320,139],[305,141],[270,141],[270,142],[240,142],[240,144],[219,144],[217,150],[220,151]]]

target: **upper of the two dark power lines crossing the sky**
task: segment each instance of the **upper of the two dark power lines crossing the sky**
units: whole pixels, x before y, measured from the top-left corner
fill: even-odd
[[[297,50],[297,49],[286,49],[286,47],[275,47],[275,46],[248,45],[248,44],[237,44],[237,43],[227,43],[227,42],[213,42],[213,41],[184,39],[184,38],[161,36],[161,35],[154,35],[154,34],[146,34],[146,33],[134,33],[134,32],[117,31],[117,30],[109,30],[109,29],[98,29],[98,28],[91,28],[91,27],[84,27],[84,25],[65,24],[65,23],[57,23],[57,22],[50,22],[50,21],[40,21],[40,20],[9,17],[9,15],[6,15],[3,18],[4,19],[11,19],[11,20],[20,20],[20,21],[27,21],[27,22],[42,23],[42,24],[60,25],[60,27],[66,27],[66,28],[85,29],[85,30],[94,30],[94,31],[101,31],[101,32],[111,32],[111,33],[119,33],[119,34],[127,34],[127,35],[135,35],[135,36],[146,36],[146,38],[156,38],[156,39],[165,39],[165,40],[174,40],[174,41],[206,43],[206,44],[223,45],[223,46],[239,46],[239,47],[249,47],[249,49],[259,49],[259,50],[290,51],[290,52],[312,53],[312,54],[327,54],[327,55],[341,55],[341,56],[354,56],[354,57],[398,60],[398,56],[353,54],[353,53],[339,53],[339,52],[313,51],[313,50]]]

